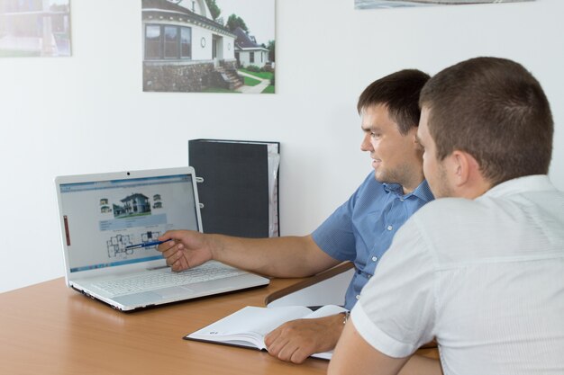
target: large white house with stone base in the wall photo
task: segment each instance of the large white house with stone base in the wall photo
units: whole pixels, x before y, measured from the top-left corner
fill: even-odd
[[[215,22],[205,0],[141,0],[143,91],[201,92],[242,85],[236,35]]]

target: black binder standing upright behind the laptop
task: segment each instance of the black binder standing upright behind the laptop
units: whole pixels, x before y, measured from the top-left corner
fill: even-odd
[[[279,142],[188,141],[205,233],[278,237]],[[270,180],[269,180],[270,179]]]

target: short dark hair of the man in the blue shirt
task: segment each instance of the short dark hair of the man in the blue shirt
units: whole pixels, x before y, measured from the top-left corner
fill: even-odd
[[[359,97],[357,110],[384,104],[399,132],[407,134],[419,126],[419,93],[430,76],[417,69],[404,69],[382,77],[370,85]]]

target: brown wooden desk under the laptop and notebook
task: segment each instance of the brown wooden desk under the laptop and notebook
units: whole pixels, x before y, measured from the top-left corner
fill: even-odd
[[[268,353],[182,340],[215,320],[303,279],[123,313],[70,290],[63,279],[0,294],[0,374],[323,374]]]

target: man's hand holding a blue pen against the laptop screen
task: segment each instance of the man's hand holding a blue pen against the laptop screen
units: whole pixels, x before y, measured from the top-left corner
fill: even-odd
[[[157,250],[167,259],[172,271],[183,271],[212,259],[205,235],[192,230],[169,230],[159,237]]]

